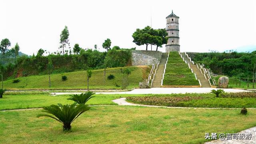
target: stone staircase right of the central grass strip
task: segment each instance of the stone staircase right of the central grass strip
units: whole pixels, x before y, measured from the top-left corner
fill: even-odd
[[[196,74],[197,79],[200,80],[202,88],[210,88],[211,86],[208,79],[207,80],[205,79],[200,69],[198,69],[195,64],[192,64],[192,62],[190,62],[190,60],[188,59],[188,57],[185,55],[184,52],[181,52],[180,54],[182,55],[184,60],[187,62],[187,64],[190,65],[190,68],[192,68],[193,72]]]

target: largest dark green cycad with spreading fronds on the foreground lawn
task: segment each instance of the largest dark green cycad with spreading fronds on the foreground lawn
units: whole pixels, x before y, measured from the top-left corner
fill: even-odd
[[[70,130],[71,124],[80,116],[82,113],[89,110],[90,107],[84,104],[67,104],[67,105],[51,105],[45,107],[42,112],[46,112],[48,114],[38,114],[37,117],[46,116],[57,120],[63,124],[63,130]]]

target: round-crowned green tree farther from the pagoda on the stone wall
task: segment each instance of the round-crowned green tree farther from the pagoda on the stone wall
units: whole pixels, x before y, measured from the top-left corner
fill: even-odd
[[[150,26],[146,26],[144,29],[136,29],[136,31],[132,34],[134,38],[133,42],[138,46],[146,44],[146,50],[148,50],[148,44],[154,43],[155,31]]]

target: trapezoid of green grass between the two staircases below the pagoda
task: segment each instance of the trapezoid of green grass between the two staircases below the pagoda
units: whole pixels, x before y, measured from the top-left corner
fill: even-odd
[[[164,74],[163,85],[167,86],[198,86],[194,74],[188,68],[178,52],[170,52],[166,71]]]

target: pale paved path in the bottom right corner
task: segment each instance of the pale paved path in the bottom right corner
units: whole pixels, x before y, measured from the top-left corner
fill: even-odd
[[[238,134],[252,134],[251,140],[214,140],[210,142],[206,142],[204,144],[256,144],[256,126],[243,130],[241,132],[237,132]]]

